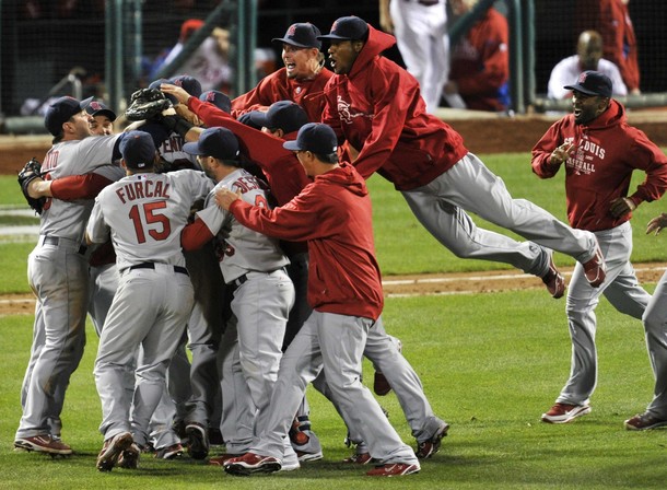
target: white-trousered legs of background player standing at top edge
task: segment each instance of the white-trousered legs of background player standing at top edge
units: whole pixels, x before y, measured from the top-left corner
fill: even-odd
[[[426,110],[433,113],[449,73],[446,0],[379,0],[379,25],[396,36]]]

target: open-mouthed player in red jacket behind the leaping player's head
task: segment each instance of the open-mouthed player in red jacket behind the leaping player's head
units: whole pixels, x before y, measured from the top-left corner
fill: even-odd
[[[290,25],[283,37],[274,37],[273,43],[282,43],[284,67],[234,98],[232,115],[239,118],[251,110],[266,110],[274,102],[292,101],[304,108],[308,120],[319,121],[324,108],[321,92],[334,74],[324,67],[319,34],[315,25],[304,22]]]

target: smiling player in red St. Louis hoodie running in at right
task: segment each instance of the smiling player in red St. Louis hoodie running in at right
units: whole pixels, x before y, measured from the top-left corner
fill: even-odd
[[[573,114],[554,122],[533,149],[533,171],[540,178],[565,171],[567,218],[577,229],[595,233],[607,277],[599,288],[584,278],[577,264],[567,293],[567,324],[572,338],[570,378],[542,415],[542,421],[565,423],[590,412],[590,395],[597,383],[597,329],[595,308],[600,295],[622,313],[642,318],[651,295],[639,284],[632,253],[631,213],[644,201],[659,199],[667,189],[667,158],[642,131],[628,126],[623,106],[611,98],[611,80],[598,71],[583,72],[573,91]],[[632,172],[646,179],[629,195]],[[663,324],[645,323],[646,346],[656,377],[667,370],[667,330]],[[658,389],[658,386],[656,386]],[[645,429],[667,411],[656,390],[656,405],[646,416],[625,421],[629,429]]]

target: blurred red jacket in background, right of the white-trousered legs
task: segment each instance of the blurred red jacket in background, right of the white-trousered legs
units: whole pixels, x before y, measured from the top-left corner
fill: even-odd
[[[458,85],[468,108],[507,108],[508,38],[507,20],[491,8],[454,49],[449,80]]]

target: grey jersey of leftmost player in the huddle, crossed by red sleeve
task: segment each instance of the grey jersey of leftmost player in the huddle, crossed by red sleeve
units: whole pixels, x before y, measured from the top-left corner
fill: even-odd
[[[105,176],[110,175],[109,172],[101,168],[109,166],[117,140],[118,135],[94,136],[83,140],[62,141],[54,144],[42,164],[42,172],[45,174],[44,179],[55,180],[70,175],[87,174],[93,171],[98,171]],[[85,222],[92,207],[92,199],[69,202],[60,199],[47,199],[40,217],[39,234],[69,238],[74,242],[83,241]]]

